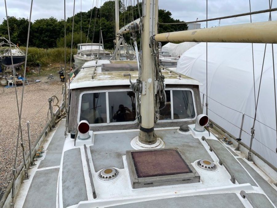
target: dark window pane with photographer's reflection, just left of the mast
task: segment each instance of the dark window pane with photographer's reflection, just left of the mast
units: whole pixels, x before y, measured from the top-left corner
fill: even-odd
[[[109,92],[110,123],[136,119],[134,92]]]

